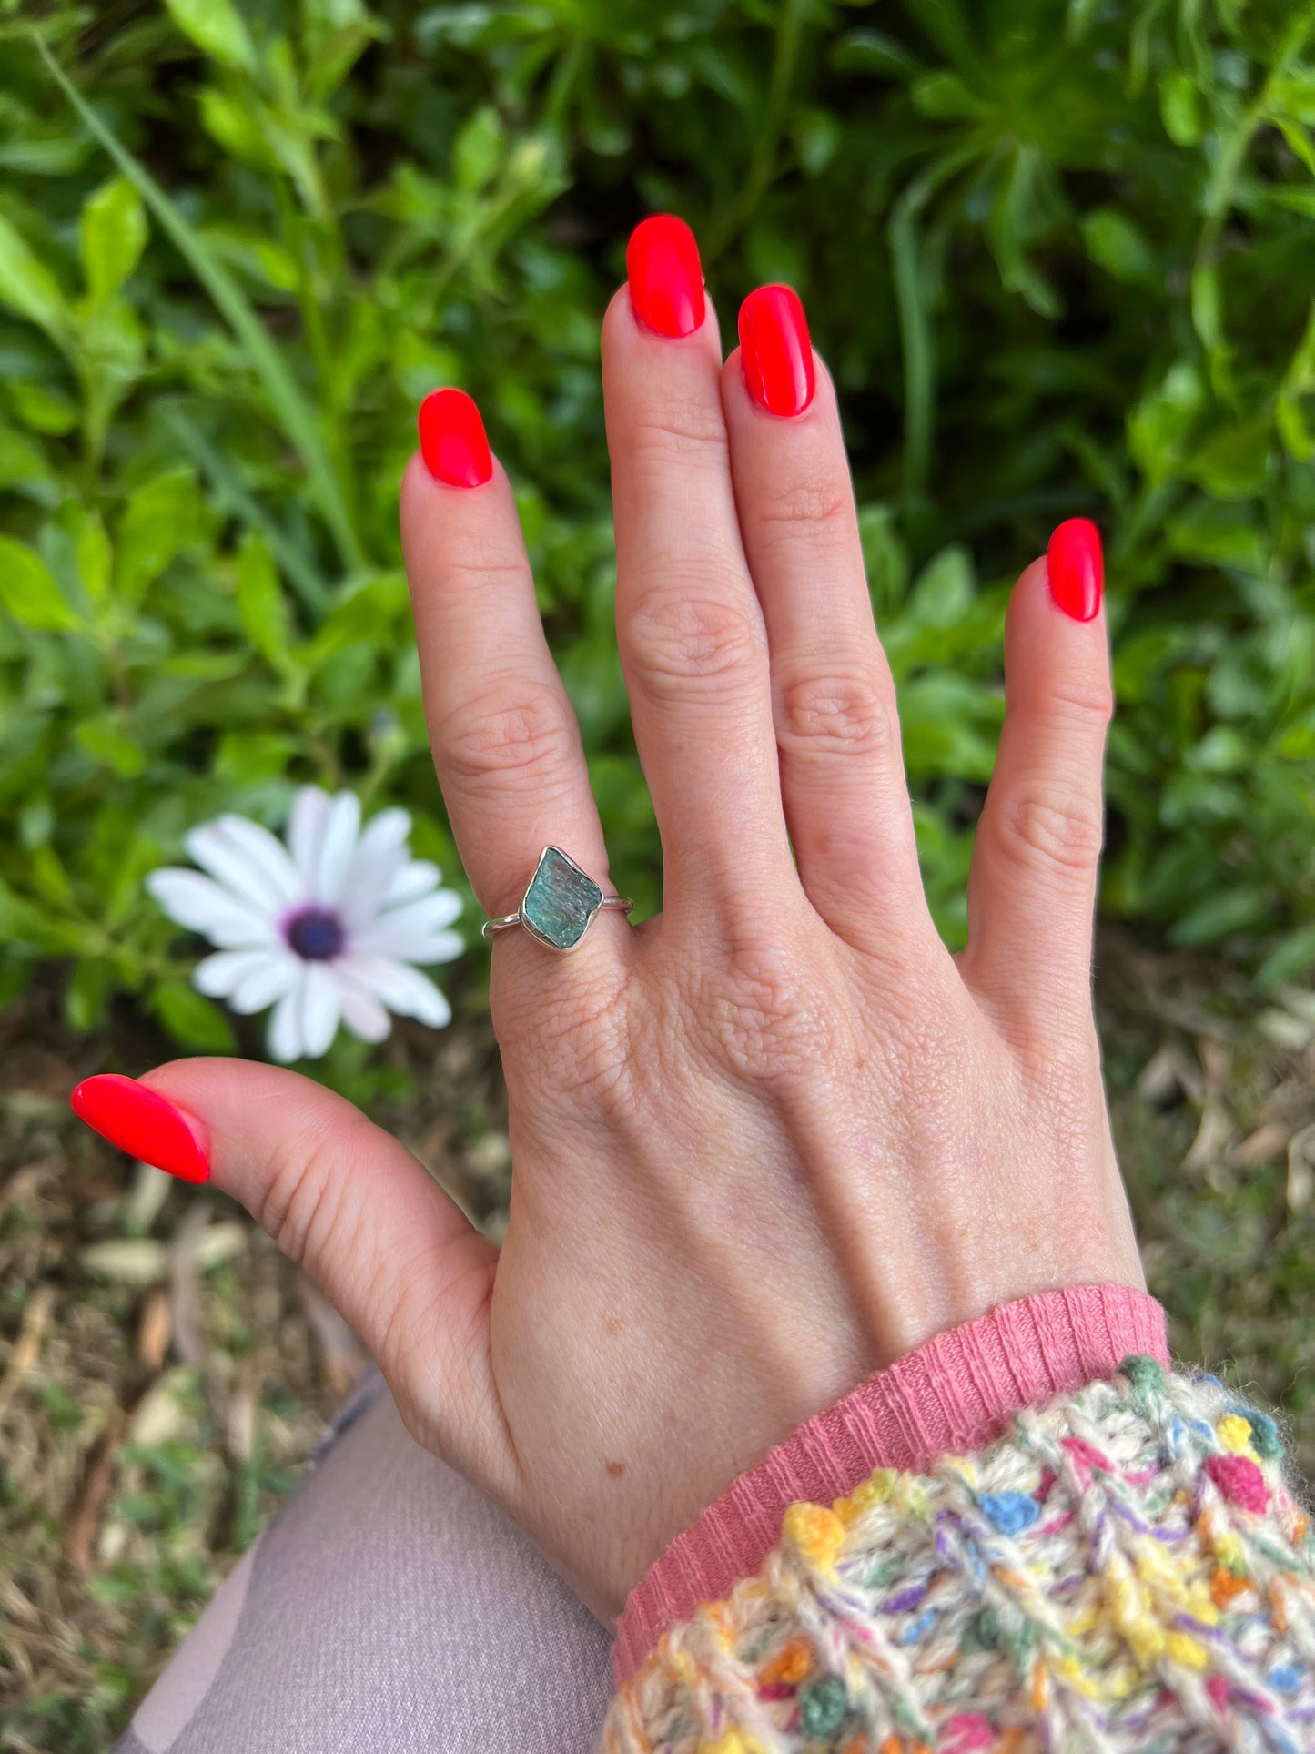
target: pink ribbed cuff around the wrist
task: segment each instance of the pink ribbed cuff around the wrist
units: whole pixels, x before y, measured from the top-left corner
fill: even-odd
[[[1113,1375],[1129,1352],[1169,1363],[1159,1303],[1129,1286],[1078,1286],[1001,1303],[878,1370],[677,1535],[617,1621],[617,1680],[629,1680],[668,1628],[759,1568],[796,1500],[831,1503],[875,1468],[922,1470],[982,1449],[1022,1407]]]

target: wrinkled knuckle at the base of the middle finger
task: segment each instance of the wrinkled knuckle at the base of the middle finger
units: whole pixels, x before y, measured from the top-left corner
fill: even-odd
[[[831,1047],[826,1014],[778,944],[742,937],[703,982],[696,1014],[717,1063],[771,1087],[815,1077]]]

